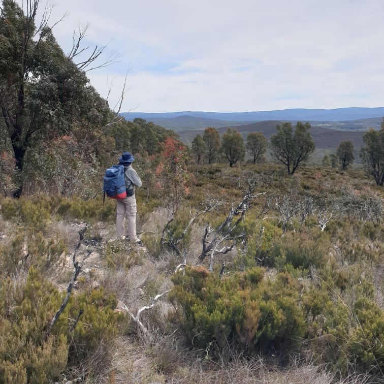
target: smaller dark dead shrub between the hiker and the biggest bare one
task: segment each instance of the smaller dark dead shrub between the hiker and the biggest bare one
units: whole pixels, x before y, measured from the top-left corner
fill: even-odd
[[[164,227],[162,238],[160,240],[161,244],[168,245],[171,249],[173,249],[177,255],[181,255],[181,251],[179,249],[179,245],[181,240],[185,237],[185,235],[188,233],[190,227],[193,225],[194,221],[201,215],[206,214],[208,212],[211,212],[212,210],[216,209],[221,204],[221,201],[217,198],[210,198],[203,203],[201,203],[196,210],[194,214],[190,212],[190,220],[184,230],[182,231],[181,235],[177,238],[175,237],[174,230],[170,227],[171,223],[173,222],[175,218],[175,212],[170,211],[171,217],[168,220],[166,226]]]

